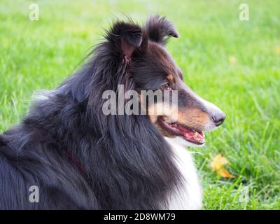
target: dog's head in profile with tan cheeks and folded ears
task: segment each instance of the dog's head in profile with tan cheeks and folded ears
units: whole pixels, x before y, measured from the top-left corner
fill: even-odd
[[[155,16],[143,28],[117,22],[107,39],[113,44],[120,63],[126,67],[124,83],[128,89],[160,90],[168,92],[169,96],[177,94],[176,100],[168,99],[171,106],[159,109],[163,104],[158,100],[148,104],[148,116],[162,135],[181,137],[189,145],[198,146],[204,144],[204,131],[220,126],[225,114],[183,82],[182,71],[165,50],[167,39],[178,36],[170,22]]]

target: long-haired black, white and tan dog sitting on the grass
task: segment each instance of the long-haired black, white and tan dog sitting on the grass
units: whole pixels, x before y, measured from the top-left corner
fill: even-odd
[[[165,17],[118,20],[81,69],[36,99],[0,135],[0,209],[202,209],[186,146],[202,146],[225,113],[183,82],[165,50],[172,37]],[[104,115],[102,93],[118,85],[176,92],[178,116],[150,113],[158,102],[144,115]]]

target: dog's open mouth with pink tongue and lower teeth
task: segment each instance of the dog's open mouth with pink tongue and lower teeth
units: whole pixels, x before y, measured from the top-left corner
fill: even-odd
[[[162,128],[167,130],[169,133],[181,136],[190,143],[202,145],[205,142],[205,135],[202,131],[193,130],[192,128],[186,127],[186,125],[181,123],[168,122],[164,117],[159,117],[158,121]]]

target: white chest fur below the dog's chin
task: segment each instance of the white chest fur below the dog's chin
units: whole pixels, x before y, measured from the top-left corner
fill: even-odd
[[[180,137],[165,139],[174,150],[175,163],[183,177],[182,186],[169,194],[166,209],[202,209],[202,188],[193,157],[186,150],[186,141]]]

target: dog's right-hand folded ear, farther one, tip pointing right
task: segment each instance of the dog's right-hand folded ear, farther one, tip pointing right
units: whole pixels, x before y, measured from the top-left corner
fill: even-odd
[[[160,18],[159,15],[152,16],[148,19],[145,26],[148,38],[162,45],[167,43],[170,36],[179,37],[178,31],[171,22],[165,17]]]

